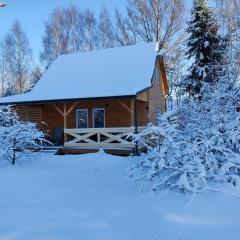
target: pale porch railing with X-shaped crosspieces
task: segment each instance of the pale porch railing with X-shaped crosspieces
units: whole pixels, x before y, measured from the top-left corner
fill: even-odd
[[[145,127],[138,127],[142,131]],[[77,128],[64,129],[68,141],[65,141],[65,148],[85,149],[132,149],[134,144],[127,136],[134,132],[134,127],[128,128]]]

